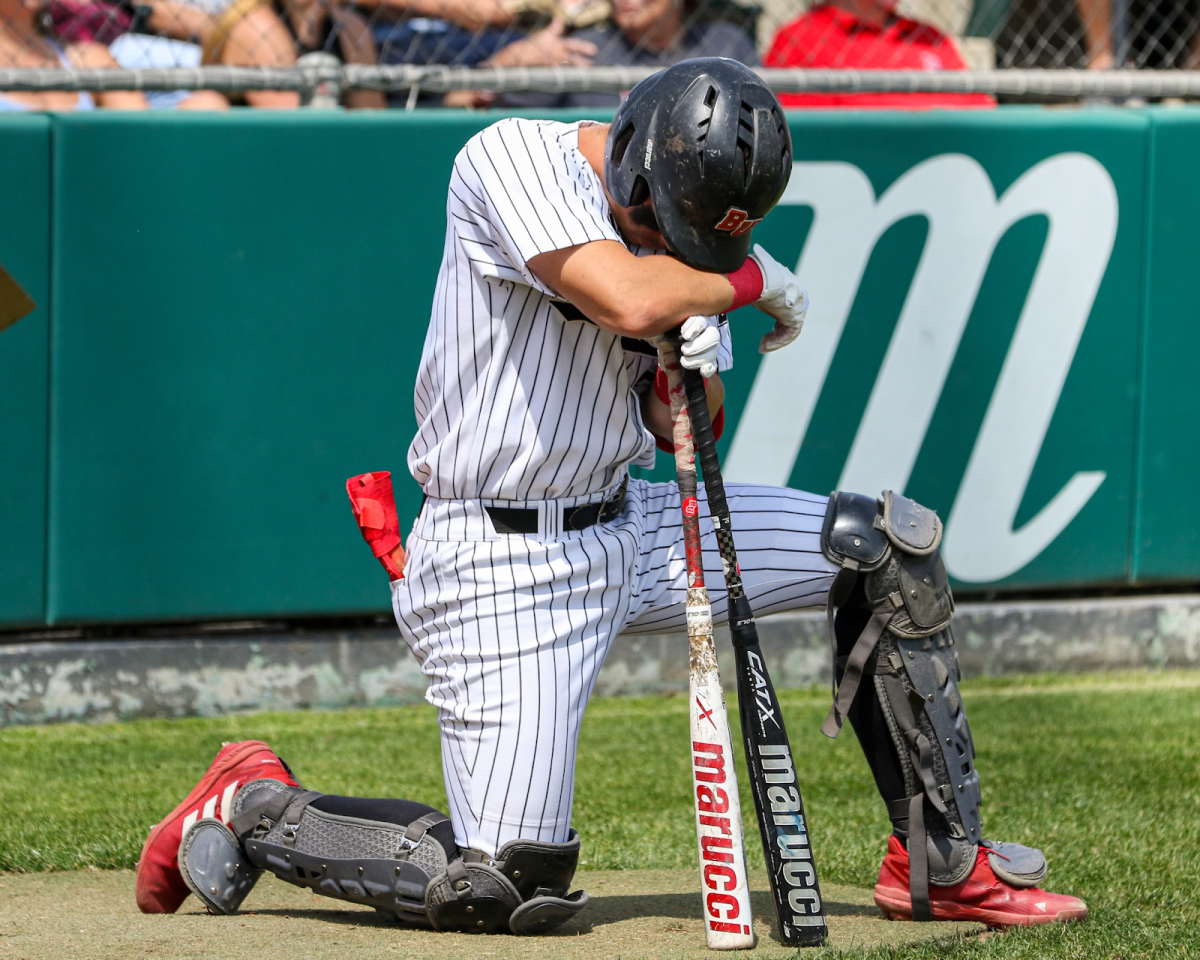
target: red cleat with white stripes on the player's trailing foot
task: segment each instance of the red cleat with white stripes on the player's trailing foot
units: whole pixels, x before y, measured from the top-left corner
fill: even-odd
[[[138,859],[137,895],[143,913],[174,913],[191,890],[179,871],[179,844],[200,817],[228,823],[238,787],[251,780],[299,786],[287,766],[262,740],[227,743],[208,773],[179,806],[150,829]]]

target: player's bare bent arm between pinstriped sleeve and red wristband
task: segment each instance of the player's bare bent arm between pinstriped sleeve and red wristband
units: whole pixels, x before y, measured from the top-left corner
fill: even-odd
[[[733,304],[724,274],[694,270],[673,257],[635,257],[611,240],[541,253],[529,269],[600,326],[646,338],[696,314],[712,317]]]

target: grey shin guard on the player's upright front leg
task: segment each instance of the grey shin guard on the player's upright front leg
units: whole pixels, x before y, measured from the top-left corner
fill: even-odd
[[[858,734],[907,840],[914,919],[931,917],[931,882],[971,874],[982,840],[941,538],[934,511],[890,491],[882,500],[834,493],[822,529],[826,556],[841,565],[829,595],[834,703],[822,731],[835,737],[848,718]]]

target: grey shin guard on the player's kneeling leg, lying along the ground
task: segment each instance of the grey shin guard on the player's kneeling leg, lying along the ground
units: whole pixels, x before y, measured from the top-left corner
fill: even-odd
[[[190,875],[217,887],[215,899],[226,895],[221,876],[232,886],[244,870],[270,870],[288,883],[373,906],[406,923],[479,934],[546,932],[588,900],[583,890],[568,895],[580,854],[574,832],[565,844],[514,840],[491,858],[460,852],[449,818],[432,808],[325,797],[274,781],[248,784],[239,793],[230,827],[245,866],[211,840],[188,850],[217,851],[203,869],[191,858],[187,864]],[[236,890],[227,899],[240,902]]]

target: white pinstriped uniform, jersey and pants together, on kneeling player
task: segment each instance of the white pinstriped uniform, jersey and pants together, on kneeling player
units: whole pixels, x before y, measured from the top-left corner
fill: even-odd
[[[392,600],[438,708],[455,839],[487,853],[566,839],[580,720],[612,638],[683,624],[673,484],[634,481],[618,520],[562,529],[565,508],[654,463],[640,395],[655,350],[583,319],[528,268],[539,253],[624,242],[578,130],[510,118],[458,154],[415,389],[408,462],[430,499]],[[718,365],[732,365],[727,325]],[[755,608],[823,602],[824,498],[731,486],[730,499]],[[497,534],[486,506],[535,509],[539,533]]]

